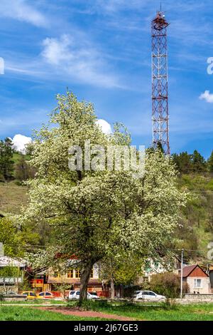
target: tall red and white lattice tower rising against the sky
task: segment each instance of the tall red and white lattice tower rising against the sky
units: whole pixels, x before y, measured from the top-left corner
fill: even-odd
[[[157,12],[152,28],[152,105],[153,146],[162,145],[165,154],[170,155],[169,112],[168,112],[168,22],[162,11]]]

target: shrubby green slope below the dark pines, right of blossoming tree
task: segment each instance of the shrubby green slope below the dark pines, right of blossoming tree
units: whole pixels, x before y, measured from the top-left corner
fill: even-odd
[[[187,250],[187,257],[204,260],[213,241],[213,174],[180,175],[178,186],[190,192],[191,200],[182,210],[177,246]]]

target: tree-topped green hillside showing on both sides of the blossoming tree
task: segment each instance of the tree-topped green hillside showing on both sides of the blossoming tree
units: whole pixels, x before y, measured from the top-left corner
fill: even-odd
[[[27,202],[27,187],[23,182],[32,178],[35,170],[25,155],[12,148],[11,140],[0,142],[0,215],[17,214]],[[180,227],[175,232],[173,250],[185,249],[187,259],[205,262],[207,246],[213,242],[213,153],[209,160],[195,151],[192,155],[173,155],[179,171],[178,187],[190,192],[191,200],[182,210]],[[45,243],[48,228],[40,227],[40,243]]]

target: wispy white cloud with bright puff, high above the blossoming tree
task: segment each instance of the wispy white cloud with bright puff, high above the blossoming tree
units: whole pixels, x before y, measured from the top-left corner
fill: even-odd
[[[75,38],[69,35],[45,38],[41,55],[46,63],[54,66],[60,76],[63,74],[95,86],[124,88],[111,73],[103,54],[80,32],[75,32]]]

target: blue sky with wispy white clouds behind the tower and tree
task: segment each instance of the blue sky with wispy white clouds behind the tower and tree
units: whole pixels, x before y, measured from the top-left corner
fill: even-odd
[[[155,0],[1,0],[0,138],[31,136],[69,87],[99,118],[151,145]],[[163,1],[168,28],[172,152],[213,150],[212,1]],[[204,99],[200,95],[205,91]]]

